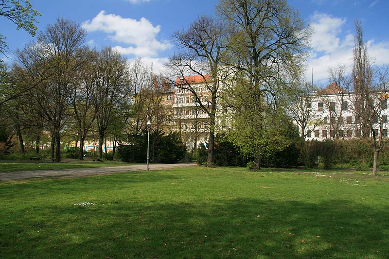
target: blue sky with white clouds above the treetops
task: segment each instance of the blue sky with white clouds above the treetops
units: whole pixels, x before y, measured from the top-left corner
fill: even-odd
[[[42,16],[38,31],[57,17],[82,24],[88,31],[87,43],[98,49],[115,47],[131,61],[141,57],[156,70],[174,52],[171,35],[187,28],[201,14],[213,14],[217,0],[30,0]],[[389,0],[289,0],[301,17],[315,30],[307,60],[307,78],[323,83],[329,67],[351,65],[354,19],[362,21],[365,40],[377,65],[389,63]],[[11,50],[33,39],[16,25],[0,17],[0,34],[7,37]],[[12,62],[12,54],[3,58]]]

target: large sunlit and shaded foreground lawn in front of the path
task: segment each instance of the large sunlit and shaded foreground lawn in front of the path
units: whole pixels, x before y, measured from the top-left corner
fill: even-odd
[[[3,182],[0,258],[388,258],[388,195],[388,176],[243,168]]]

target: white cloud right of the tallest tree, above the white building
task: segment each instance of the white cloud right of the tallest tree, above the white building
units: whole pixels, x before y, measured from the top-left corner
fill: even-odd
[[[353,64],[354,35],[341,35],[346,19],[315,12],[311,17],[314,28],[312,36],[312,52],[307,62],[306,78],[313,77],[315,81],[325,82],[328,69],[337,65],[350,68]],[[365,39],[366,40],[366,39]],[[375,65],[383,65],[389,60],[389,42],[367,42],[368,53]]]

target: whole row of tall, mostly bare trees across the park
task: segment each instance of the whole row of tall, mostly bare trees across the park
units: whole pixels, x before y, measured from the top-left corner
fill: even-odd
[[[229,140],[252,157],[254,168],[259,169],[269,154],[290,147],[292,119],[302,128],[320,123],[311,116],[312,107],[301,103],[301,96],[313,89],[301,87],[311,28],[286,0],[219,0],[215,10],[214,16],[200,16],[173,34],[176,52],[164,75],[156,75],[140,60],[129,65],[110,47],[88,48],[86,32],[75,22],[58,18],[16,52],[17,63],[8,70],[2,65],[0,105],[4,118],[12,121],[20,149],[23,132],[36,146],[43,132],[49,132],[52,158],[60,161],[61,138],[73,134],[82,159],[84,140],[93,135],[102,157],[108,135],[116,143],[125,135],[141,134],[148,120],[156,132],[173,131],[177,125],[163,105],[164,84],[189,91],[197,109],[208,115],[207,166],[214,160],[220,107],[229,111],[223,115],[229,121]],[[354,106],[366,132],[363,136],[372,136],[378,157],[385,145],[384,126],[376,134],[369,118],[379,115],[371,96],[386,86],[385,71],[379,70],[380,79],[372,80],[378,72],[372,69],[360,23],[355,28],[352,75],[346,78],[339,67],[330,71],[330,80],[348,84],[358,94],[359,106]],[[210,92],[207,102],[196,91],[196,82],[176,80],[190,76],[203,79]],[[291,114],[291,107],[298,113]]]

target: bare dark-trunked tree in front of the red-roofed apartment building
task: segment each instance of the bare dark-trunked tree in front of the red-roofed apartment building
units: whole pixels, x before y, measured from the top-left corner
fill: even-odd
[[[182,80],[173,81],[178,88],[188,90],[194,97],[195,103],[209,116],[210,133],[208,140],[207,166],[212,166],[213,146],[215,137],[215,116],[220,74],[224,59],[227,55],[226,26],[211,17],[202,16],[193,22],[186,31],[176,32],[173,38],[179,53],[172,56],[169,69],[173,76]],[[224,68],[225,69],[225,68]],[[195,90],[199,76],[210,92],[210,99],[203,102]]]

